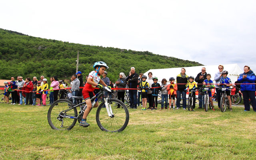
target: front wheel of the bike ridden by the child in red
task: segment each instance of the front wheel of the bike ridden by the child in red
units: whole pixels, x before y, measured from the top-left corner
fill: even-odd
[[[96,111],[96,122],[101,130],[107,132],[121,132],[129,122],[129,111],[125,104],[117,99],[109,99],[114,117],[109,117],[105,104],[101,103]],[[117,108],[116,104],[120,104]]]

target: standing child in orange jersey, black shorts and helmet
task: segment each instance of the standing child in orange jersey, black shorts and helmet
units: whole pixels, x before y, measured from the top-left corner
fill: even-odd
[[[169,109],[172,108],[175,109],[175,97],[177,96],[176,91],[178,90],[177,84],[174,84],[175,78],[171,77],[169,78],[170,84],[167,86],[168,90],[168,95],[169,95]],[[172,105],[171,105],[171,100],[172,100]]]

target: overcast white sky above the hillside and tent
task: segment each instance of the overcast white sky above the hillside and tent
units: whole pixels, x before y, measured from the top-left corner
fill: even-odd
[[[255,0],[8,0],[1,2],[0,28],[254,70],[255,6]]]

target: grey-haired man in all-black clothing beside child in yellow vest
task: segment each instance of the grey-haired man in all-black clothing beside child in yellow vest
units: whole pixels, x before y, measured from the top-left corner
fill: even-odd
[[[135,68],[131,67],[129,76],[126,77],[129,88],[135,88],[136,90],[129,90],[130,108],[137,109],[137,86],[139,75],[135,72]]]

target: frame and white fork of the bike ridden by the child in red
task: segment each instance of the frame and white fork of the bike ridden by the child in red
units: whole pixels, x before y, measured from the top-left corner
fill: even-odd
[[[94,100],[94,101],[92,102],[92,108],[95,106],[96,102],[98,102],[98,98],[100,98],[101,96],[103,96],[104,103],[105,103],[105,106],[106,106],[106,110],[107,110],[107,112],[108,112],[108,116],[110,116],[110,117],[113,118],[113,117],[114,117],[114,114],[113,114],[113,112],[112,112],[112,108],[111,108],[110,104],[108,104],[108,97],[106,97],[106,96],[104,95],[104,90],[107,90],[108,92],[111,92],[111,90],[110,90],[108,87],[105,86],[103,90],[101,90],[101,91],[98,92],[95,96],[93,96],[93,97],[91,98],[91,100]],[[66,112],[72,110],[73,108],[76,108],[76,107],[80,106],[80,111],[81,111],[81,114],[82,114],[82,113],[84,112],[84,108],[82,108],[83,104],[85,104],[85,105],[84,105],[84,108],[86,108],[86,106],[87,106],[87,105],[86,105],[86,102],[82,102],[82,103],[80,103],[80,104],[76,104],[75,106],[71,106],[71,107],[68,108],[67,110],[63,110],[62,112],[60,112],[59,115],[60,115],[62,118],[78,119],[78,116],[76,116],[76,117],[74,117],[74,116],[68,116],[68,115],[66,115]],[[63,115],[62,113],[65,113],[65,114]],[[58,118],[58,120],[62,121],[62,125],[61,125],[61,126],[63,126],[63,120],[62,120],[62,118]]]

